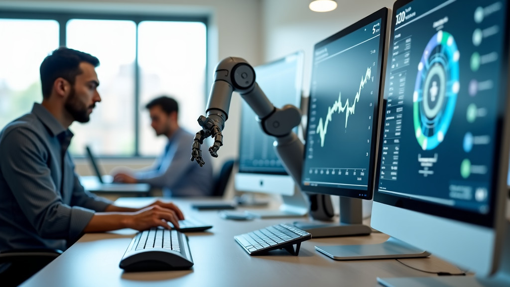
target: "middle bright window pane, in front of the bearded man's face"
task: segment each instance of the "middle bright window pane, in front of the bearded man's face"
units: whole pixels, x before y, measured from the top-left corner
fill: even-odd
[[[135,152],[135,58],[136,24],[125,20],[71,19],[67,22],[67,47],[99,59],[96,68],[101,102],[90,122],[74,122],[70,152],[79,154],[85,145],[102,154]]]

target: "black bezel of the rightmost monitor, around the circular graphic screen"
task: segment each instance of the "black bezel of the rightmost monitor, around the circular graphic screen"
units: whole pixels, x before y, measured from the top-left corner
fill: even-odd
[[[397,11],[400,8],[411,3],[412,1],[414,1],[414,0],[397,0],[393,6],[392,19],[395,19]],[[506,11],[505,11],[506,19],[509,15],[509,6],[510,5],[507,5]],[[508,51],[509,51],[508,50],[509,49],[508,26],[509,26],[509,23],[508,23],[508,20],[506,20],[504,39],[503,39],[503,51],[506,51],[506,54],[502,55],[502,57],[503,57],[502,62],[506,63],[506,65],[503,64],[501,67],[501,71],[500,71],[500,74],[502,75],[501,79],[506,79],[508,76],[508,69],[506,68],[508,66]],[[389,36],[390,36],[389,45],[388,45],[389,47],[391,47],[394,42],[394,39],[393,39],[394,29],[395,29],[395,21],[392,21],[391,29],[389,31]],[[386,76],[389,77],[389,75],[390,75],[389,71],[387,71]],[[386,81],[386,79],[385,79],[385,81]],[[494,140],[495,145],[494,145],[494,155],[493,155],[493,157],[494,157],[493,171],[496,171],[496,172],[493,173],[492,179],[490,181],[491,188],[494,189],[494,192],[491,194],[491,199],[489,201],[490,202],[489,203],[490,210],[488,213],[482,214],[482,213],[478,213],[478,212],[473,212],[473,211],[468,211],[468,210],[463,210],[463,209],[456,209],[456,208],[452,208],[452,207],[448,207],[448,206],[444,206],[444,205],[419,201],[416,199],[398,197],[398,196],[394,196],[394,195],[390,195],[390,194],[386,194],[386,193],[380,193],[380,192],[378,192],[378,190],[374,190],[374,201],[385,204],[385,205],[389,205],[389,206],[394,206],[394,207],[408,209],[408,210],[412,210],[412,211],[416,211],[416,212],[420,212],[420,213],[429,214],[431,216],[447,218],[447,219],[451,219],[451,220],[455,220],[455,221],[461,221],[461,222],[475,224],[475,225],[484,226],[484,227],[494,227],[496,224],[495,214],[497,212],[499,212],[498,208],[497,208],[496,199],[498,198],[498,192],[499,192],[499,188],[500,188],[499,181],[502,176],[501,171],[502,170],[505,171],[504,172],[504,182],[505,182],[505,186],[506,186],[506,176],[507,176],[506,171],[508,169],[508,161],[507,160],[503,161],[501,158],[502,154],[508,154],[508,151],[507,151],[508,147],[505,147],[504,146],[505,143],[502,142],[504,140],[503,132],[504,132],[504,127],[506,125],[505,123],[507,123],[507,121],[508,121],[508,119],[506,118],[506,115],[505,115],[505,110],[507,108],[506,94],[508,93],[508,87],[507,87],[506,81],[502,80],[499,88],[500,88],[500,92],[499,92],[499,99],[498,99],[497,121],[496,121],[496,128],[495,128],[495,131],[496,131],[495,136],[496,137]],[[387,100],[387,94],[385,91],[383,91],[383,97],[384,97],[384,99],[383,99],[383,102],[384,102],[385,100]],[[386,108],[387,108],[386,105],[382,105],[382,114],[386,113]],[[384,125],[384,123],[385,123],[385,121],[383,118],[381,121],[381,125]],[[381,129],[379,131],[379,137],[380,138],[384,137],[384,130]],[[383,143],[383,141],[380,141],[379,145],[378,145],[379,153],[382,151],[382,143]],[[506,143],[506,146],[508,146],[508,143]],[[381,161],[381,159],[379,157],[377,159],[377,164],[376,164],[376,173],[375,173],[376,185],[375,186],[379,186],[380,172],[381,172],[380,161]]]

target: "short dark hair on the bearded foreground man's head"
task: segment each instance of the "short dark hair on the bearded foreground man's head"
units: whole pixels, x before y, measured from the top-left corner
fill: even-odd
[[[83,73],[80,69],[80,63],[87,62],[94,67],[99,65],[99,60],[87,53],[69,49],[67,47],[59,47],[44,58],[39,68],[41,74],[42,97],[49,98],[52,93],[52,86],[55,80],[63,78],[71,85],[74,85],[76,76]]]

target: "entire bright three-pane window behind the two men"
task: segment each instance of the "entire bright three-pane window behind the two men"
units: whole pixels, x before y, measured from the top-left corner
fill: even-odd
[[[84,155],[85,145],[91,145],[103,156],[159,154],[166,139],[157,137],[150,127],[145,104],[158,95],[170,95],[179,102],[180,125],[191,132],[199,129],[196,119],[207,98],[205,22],[201,18],[1,13],[0,128],[30,112],[34,102],[41,102],[39,66],[47,54],[65,45],[100,62],[96,71],[101,102],[90,122],[71,125],[75,136],[70,152]]]

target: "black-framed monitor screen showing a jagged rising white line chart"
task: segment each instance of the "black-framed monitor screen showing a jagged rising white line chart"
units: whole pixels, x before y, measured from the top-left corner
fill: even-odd
[[[314,47],[301,189],[371,199],[387,8]]]

